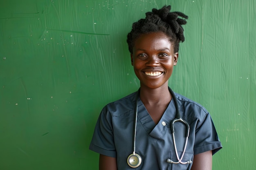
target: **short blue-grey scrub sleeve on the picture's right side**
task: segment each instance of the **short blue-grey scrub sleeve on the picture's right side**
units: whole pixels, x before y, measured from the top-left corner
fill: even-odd
[[[222,148],[220,139],[209,113],[204,116],[202,122],[198,122],[195,130],[194,155],[212,150],[215,154]]]

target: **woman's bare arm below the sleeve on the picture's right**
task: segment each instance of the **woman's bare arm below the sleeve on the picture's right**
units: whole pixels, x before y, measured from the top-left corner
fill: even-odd
[[[194,156],[191,170],[211,170],[212,151],[202,152]]]

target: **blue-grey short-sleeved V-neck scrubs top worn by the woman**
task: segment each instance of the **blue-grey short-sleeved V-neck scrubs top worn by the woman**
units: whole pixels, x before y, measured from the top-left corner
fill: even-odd
[[[212,150],[213,154],[222,148],[211,116],[200,104],[175,93],[182,119],[190,126],[189,139],[183,162],[192,161],[193,156]],[[175,119],[176,109],[173,99],[156,125],[144,104],[138,97],[138,118],[136,130],[136,150],[141,156],[141,165],[131,168],[127,158],[133,151],[135,100],[137,93],[106,105],[94,129],[90,150],[117,158],[118,170],[190,170],[190,164],[167,163],[167,159],[177,162],[171,121]],[[179,157],[186,140],[186,126],[174,124],[175,143]]]

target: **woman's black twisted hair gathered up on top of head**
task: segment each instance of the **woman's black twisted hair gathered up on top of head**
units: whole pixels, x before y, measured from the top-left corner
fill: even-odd
[[[152,9],[152,12],[146,13],[146,18],[140,19],[132,24],[132,31],[127,35],[128,49],[132,53],[135,40],[141,34],[151,32],[163,32],[171,39],[173,43],[174,52],[179,51],[180,41],[184,42],[185,37],[183,34],[184,29],[182,25],[186,24],[189,17],[181,12],[170,12],[171,5],[164,6],[161,9]],[[182,17],[182,18],[179,18]]]

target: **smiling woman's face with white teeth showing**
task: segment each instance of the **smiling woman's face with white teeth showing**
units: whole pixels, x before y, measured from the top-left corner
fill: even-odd
[[[177,60],[170,38],[162,32],[142,34],[135,40],[131,61],[141,87],[168,86]]]

